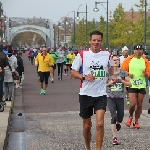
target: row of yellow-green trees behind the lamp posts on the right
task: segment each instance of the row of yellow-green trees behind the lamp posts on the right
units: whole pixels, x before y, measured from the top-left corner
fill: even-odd
[[[147,4],[149,6],[149,4]],[[144,44],[144,7],[145,0],[140,0],[135,4],[138,9],[138,18],[135,19],[135,10],[130,9],[131,18],[127,20],[122,3],[119,3],[114,13],[110,12],[109,20],[109,46],[121,48],[124,45],[134,45],[136,43]],[[150,11],[150,10],[148,10]],[[100,16],[99,25],[96,26],[95,20],[88,21],[88,39],[89,32],[100,30],[104,34],[103,44],[106,41],[106,21]],[[81,20],[76,24],[76,45],[85,45],[85,23]],[[147,19],[147,43],[150,43],[150,18]]]

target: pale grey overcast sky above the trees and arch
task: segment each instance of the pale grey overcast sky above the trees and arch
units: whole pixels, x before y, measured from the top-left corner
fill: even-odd
[[[88,6],[88,20],[93,18],[99,21],[99,16],[106,17],[106,11],[98,5],[99,12],[93,12],[95,1],[106,2],[106,0],[0,0],[3,4],[4,12],[8,17],[25,17],[51,19],[53,22],[59,21],[61,17],[67,16],[70,11],[77,11],[79,6],[80,12],[85,12],[85,3]],[[140,0],[109,0],[109,11],[114,11],[119,3],[123,4],[125,11],[129,11],[134,4]],[[150,0],[148,0],[150,1]],[[103,4],[107,7],[106,4]],[[135,7],[134,7],[135,8]],[[82,17],[85,14],[80,14]],[[73,13],[69,14],[73,17]]]

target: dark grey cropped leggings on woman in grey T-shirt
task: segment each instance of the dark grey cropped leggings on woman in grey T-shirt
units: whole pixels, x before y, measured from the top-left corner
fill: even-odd
[[[124,117],[124,98],[108,98],[108,108],[111,113],[111,124],[121,123]]]

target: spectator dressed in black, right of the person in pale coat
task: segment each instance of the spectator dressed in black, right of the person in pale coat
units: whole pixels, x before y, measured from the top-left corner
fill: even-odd
[[[19,79],[20,79],[20,83],[21,83],[22,74],[24,74],[24,65],[23,65],[23,60],[21,58],[22,52],[18,52],[16,57],[17,57],[17,65],[18,65],[16,71],[19,73]],[[19,85],[16,85],[16,88],[18,88],[18,86]]]

